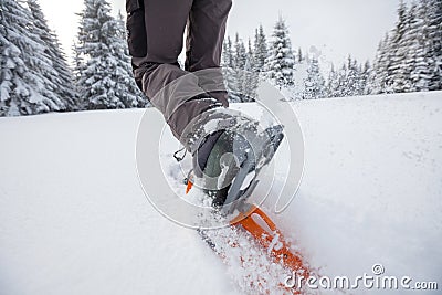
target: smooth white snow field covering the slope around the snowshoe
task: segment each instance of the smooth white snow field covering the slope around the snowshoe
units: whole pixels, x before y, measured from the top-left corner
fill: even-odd
[[[283,232],[322,275],[356,277],[380,263],[441,288],[442,93],[293,106],[306,166],[295,200],[272,214]],[[141,115],[0,119],[1,294],[239,294],[198,234],[146,200],[135,162]]]

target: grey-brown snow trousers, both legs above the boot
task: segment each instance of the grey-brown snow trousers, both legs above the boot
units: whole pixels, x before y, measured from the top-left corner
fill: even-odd
[[[177,138],[200,114],[228,106],[220,60],[231,6],[232,0],[126,0],[135,80]],[[178,55],[186,25],[185,71]]]

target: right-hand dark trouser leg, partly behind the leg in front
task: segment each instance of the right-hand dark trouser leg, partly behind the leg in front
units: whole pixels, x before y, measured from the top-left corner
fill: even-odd
[[[200,77],[200,85],[224,106],[229,103],[227,92],[219,91],[224,89],[220,63],[225,23],[231,7],[232,0],[193,0],[186,44],[186,70],[197,72],[213,69],[210,75]]]

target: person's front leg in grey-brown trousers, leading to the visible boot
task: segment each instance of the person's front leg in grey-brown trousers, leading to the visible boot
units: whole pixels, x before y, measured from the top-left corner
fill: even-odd
[[[204,93],[199,77],[177,63],[192,1],[126,0],[135,78],[177,138],[192,118],[220,105],[217,99],[198,99],[196,96]]]

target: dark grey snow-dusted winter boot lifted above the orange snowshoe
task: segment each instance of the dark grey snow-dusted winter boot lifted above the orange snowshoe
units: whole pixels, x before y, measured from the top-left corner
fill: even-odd
[[[240,128],[207,136],[193,155],[193,175],[202,179],[201,187],[214,208],[225,208],[251,194],[257,173],[273,158],[283,137],[280,125],[261,134],[256,128]]]

